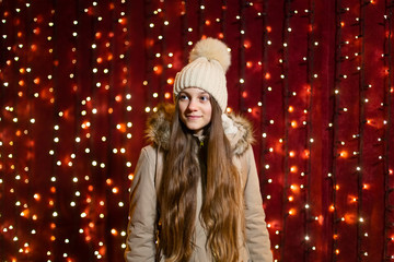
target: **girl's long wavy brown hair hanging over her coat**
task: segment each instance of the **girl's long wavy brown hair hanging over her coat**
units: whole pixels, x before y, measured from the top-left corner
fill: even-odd
[[[200,150],[196,136],[179,120],[176,103],[158,195],[161,221],[159,248],[166,261],[189,260],[196,218],[204,222],[201,224],[208,234],[207,246],[216,261],[239,259],[237,240],[242,237],[241,227],[244,225],[240,175],[232,163],[221,109],[213,98],[211,105],[211,122],[205,131],[207,142]],[[201,170],[204,166],[206,168]],[[202,181],[200,217],[196,216],[199,177]]]

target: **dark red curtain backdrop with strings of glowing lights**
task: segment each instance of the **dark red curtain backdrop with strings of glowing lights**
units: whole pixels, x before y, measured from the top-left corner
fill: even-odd
[[[207,36],[232,50],[275,259],[391,260],[393,5],[0,0],[0,260],[123,260],[146,119]]]

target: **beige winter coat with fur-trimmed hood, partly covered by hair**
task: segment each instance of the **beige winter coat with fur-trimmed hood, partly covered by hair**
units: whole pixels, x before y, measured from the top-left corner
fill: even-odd
[[[170,114],[171,115],[171,114]],[[142,148],[130,188],[130,213],[125,259],[127,262],[155,260],[157,190],[163,168],[163,153],[169,148],[169,112],[159,111],[150,120],[148,136],[152,144]],[[241,117],[223,116],[223,128],[233,152],[233,163],[242,176],[246,242],[240,239],[240,261],[273,261],[265,223],[255,158],[251,146],[252,131]],[[201,207],[201,184],[197,189],[197,214]],[[199,216],[198,216],[199,217]],[[190,261],[215,261],[206,247],[207,234],[196,218],[195,249]],[[164,261],[162,258],[161,261]]]

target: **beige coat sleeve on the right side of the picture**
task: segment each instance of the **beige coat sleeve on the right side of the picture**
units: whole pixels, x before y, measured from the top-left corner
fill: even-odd
[[[265,223],[259,180],[252,146],[248,146],[244,154],[247,163],[247,178],[244,191],[247,249],[252,261],[271,262],[273,253],[270,251],[269,234]]]

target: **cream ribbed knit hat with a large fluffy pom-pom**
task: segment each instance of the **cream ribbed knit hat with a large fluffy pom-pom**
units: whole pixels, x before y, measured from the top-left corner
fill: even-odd
[[[175,76],[174,96],[187,87],[198,87],[208,92],[225,111],[228,91],[225,72],[231,64],[228,47],[221,40],[206,38],[199,40],[189,55],[189,63]]]

